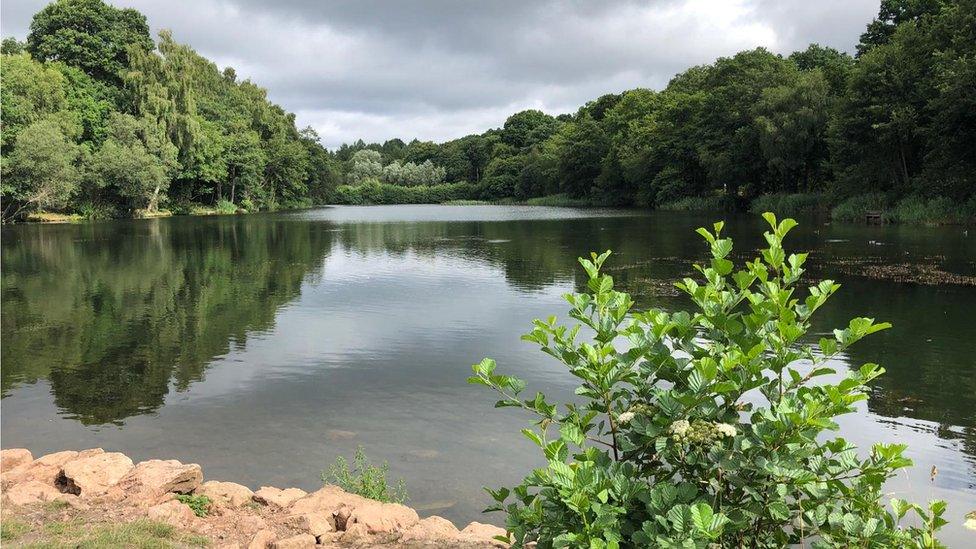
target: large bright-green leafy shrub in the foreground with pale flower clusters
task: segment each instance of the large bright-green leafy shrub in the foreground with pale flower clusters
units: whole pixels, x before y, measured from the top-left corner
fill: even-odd
[[[812,316],[840,286],[801,295],[807,254],[783,248],[796,222],[763,217],[768,246],[739,270],[723,224],[698,229],[711,259],[677,284],[694,312],[634,311],[601,272],[610,252],[580,259],[588,291],[566,295],[579,324],[536,320],[523,339],[569,369],[581,402],[525,399],[493,360],[473,367],[469,382],[497,391],[496,406],[538,417],[522,432],[548,465],[488,489],[516,547],[942,547],[944,502],[881,501],[911,464],[905,446],[864,455],[831,434],[884,369],[840,374],[828,361],[889,325],[855,318],[811,342]]]

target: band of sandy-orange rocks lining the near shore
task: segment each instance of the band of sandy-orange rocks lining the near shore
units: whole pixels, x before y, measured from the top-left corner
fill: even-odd
[[[472,522],[459,530],[444,518],[421,519],[405,505],[374,501],[337,486],[311,493],[262,486],[252,492],[233,482],[203,482],[196,464],[158,459],[133,464],[124,454],[101,448],[37,459],[25,449],[3,450],[0,465],[5,512],[63,501],[70,508],[89,510],[89,516],[170,524],[209,538],[215,547],[508,545],[496,539],[507,535],[497,526]],[[180,501],[182,495],[190,496],[203,516]]]

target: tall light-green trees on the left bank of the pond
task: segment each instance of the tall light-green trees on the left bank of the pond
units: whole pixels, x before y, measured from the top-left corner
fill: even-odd
[[[2,59],[4,218],[274,209],[337,182],[313,130],[135,10],[58,0]]]

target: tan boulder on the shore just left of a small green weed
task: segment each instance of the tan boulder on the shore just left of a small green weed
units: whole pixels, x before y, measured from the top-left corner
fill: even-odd
[[[138,463],[113,491],[124,498],[154,502],[170,492],[189,494],[202,480],[203,471],[196,463],[151,459]]]

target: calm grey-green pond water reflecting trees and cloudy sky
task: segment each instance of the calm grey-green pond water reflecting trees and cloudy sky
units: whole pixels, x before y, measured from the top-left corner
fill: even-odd
[[[671,282],[704,257],[693,230],[714,217],[391,206],[4,227],[3,447],[101,446],[314,489],[362,445],[422,514],[497,523],[481,487],[539,458],[518,434],[528,418],[493,409],[465,383],[470,365],[490,356],[570,398],[571,377],[519,336],[566,318],[576,257],[613,249],[641,307],[688,307]],[[728,221],[744,258],[762,222]],[[811,220],[789,244],[812,251],[812,279],[843,283],[815,331],[894,324],[839,361],[888,370],[843,435],[910,444],[916,466],[892,492],[949,500],[945,537],[962,543],[976,509],[976,234]]]

